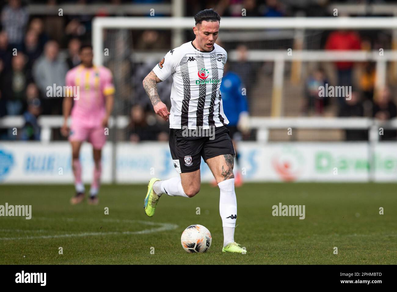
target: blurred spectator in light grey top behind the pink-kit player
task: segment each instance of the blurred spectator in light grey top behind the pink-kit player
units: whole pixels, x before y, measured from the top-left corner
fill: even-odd
[[[67,64],[58,58],[58,52],[58,43],[48,41],[44,46],[44,56],[33,65],[33,77],[42,96],[43,114],[62,114],[63,97],[47,96],[48,86],[65,86]]]

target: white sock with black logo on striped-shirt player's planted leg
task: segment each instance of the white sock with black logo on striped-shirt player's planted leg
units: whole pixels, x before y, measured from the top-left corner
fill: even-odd
[[[237,218],[237,199],[234,191],[234,178],[218,184],[220,189],[219,214],[224,230],[224,246],[234,242],[234,228]]]

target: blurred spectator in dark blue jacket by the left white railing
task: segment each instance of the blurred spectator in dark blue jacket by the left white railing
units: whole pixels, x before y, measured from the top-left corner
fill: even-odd
[[[23,114],[25,125],[22,128],[22,140],[40,140],[40,126],[37,118],[40,115],[40,99],[37,97],[29,99],[27,111]]]

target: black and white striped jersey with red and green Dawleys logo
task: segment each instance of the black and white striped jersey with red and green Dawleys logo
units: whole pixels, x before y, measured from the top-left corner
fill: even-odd
[[[193,42],[170,50],[153,72],[161,80],[172,75],[170,128],[208,129],[229,124],[220,86],[227,52],[218,44],[202,52]]]

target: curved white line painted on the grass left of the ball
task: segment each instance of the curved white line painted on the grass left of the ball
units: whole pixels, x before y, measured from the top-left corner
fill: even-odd
[[[45,217],[42,217],[45,218]],[[69,220],[71,218],[63,218],[65,220]],[[93,219],[94,220],[94,219]],[[81,221],[81,220],[80,220]],[[2,237],[0,240],[21,240],[21,239],[48,239],[48,238],[64,238],[64,237],[84,237],[84,236],[100,236],[100,235],[120,235],[120,234],[149,234],[153,232],[162,232],[162,231],[167,231],[167,230],[174,230],[178,228],[177,224],[171,224],[171,223],[156,223],[156,222],[150,222],[150,221],[143,221],[143,220],[118,220],[118,219],[102,219],[101,221],[104,222],[128,222],[128,223],[141,223],[144,225],[160,225],[160,227],[157,228],[151,228],[151,229],[145,229],[145,230],[139,230],[139,231],[115,231],[115,232],[81,232],[81,233],[75,233],[75,234],[57,234],[57,235],[41,235],[41,236],[26,236],[26,237]],[[19,229],[17,229],[19,230]],[[17,231],[17,230],[11,230],[10,231]],[[27,230],[19,230],[19,231],[27,231]],[[31,232],[35,232],[36,230],[31,230]],[[41,230],[40,230],[41,231]]]

